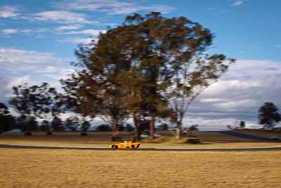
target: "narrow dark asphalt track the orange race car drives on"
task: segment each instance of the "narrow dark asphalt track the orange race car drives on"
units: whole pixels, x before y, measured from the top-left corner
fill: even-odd
[[[105,147],[62,147],[62,146],[21,146],[0,144],[0,148],[6,149],[67,149],[67,150],[95,150],[113,151]],[[140,149],[117,149],[115,151],[281,151],[281,147],[251,147],[251,148],[140,148]]]

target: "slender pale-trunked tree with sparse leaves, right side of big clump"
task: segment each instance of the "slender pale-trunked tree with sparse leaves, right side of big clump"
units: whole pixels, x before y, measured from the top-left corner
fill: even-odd
[[[171,106],[176,116],[176,138],[181,138],[183,118],[188,107],[207,87],[226,73],[228,65],[235,60],[223,55],[207,56],[197,54],[189,61],[178,62],[171,91]]]

